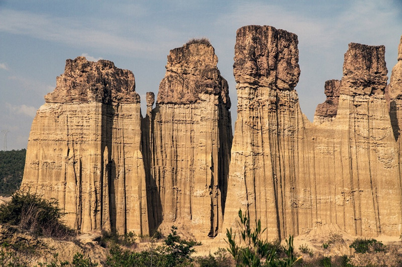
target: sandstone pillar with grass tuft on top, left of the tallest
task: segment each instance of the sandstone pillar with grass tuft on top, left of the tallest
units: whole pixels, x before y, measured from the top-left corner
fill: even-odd
[[[161,228],[215,236],[222,224],[232,144],[228,84],[209,42],[170,51],[152,112],[151,176]],[[154,207],[158,209],[158,207]]]

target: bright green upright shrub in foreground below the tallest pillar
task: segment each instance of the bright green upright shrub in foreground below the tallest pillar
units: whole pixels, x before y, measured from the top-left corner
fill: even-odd
[[[287,248],[284,248],[285,257],[279,258],[277,254],[277,246],[263,240],[261,235],[265,229],[261,229],[261,221],[256,222],[257,227],[250,227],[250,219],[247,215],[243,215],[239,210],[240,218],[240,237],[243,246],[236,243],[236,235],[232,233],[232,228],[226,229],[228,251],[232,254],[237,266],[294,266],[295,263],[302,258],[296,258],[293,253],[293,236],[289,236],[286,240]]]

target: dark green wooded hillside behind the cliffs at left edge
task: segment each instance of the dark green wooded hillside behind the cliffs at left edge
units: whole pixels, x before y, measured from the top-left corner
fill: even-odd
[[[11,195],[20,187],[26,153],[26,149],[0,151],[0,195]]]

